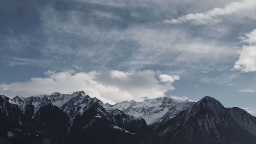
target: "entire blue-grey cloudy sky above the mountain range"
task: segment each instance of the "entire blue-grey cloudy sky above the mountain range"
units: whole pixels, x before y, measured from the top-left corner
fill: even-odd
[[[254,0],[0,3],[0,94],[208,95],[256,115]]]

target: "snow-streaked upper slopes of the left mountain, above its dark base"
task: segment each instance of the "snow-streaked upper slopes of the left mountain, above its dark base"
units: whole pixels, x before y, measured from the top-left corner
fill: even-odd
[[[15,98],[10,99],[9,103],[18,105],[24,113],[27,106],[33,106],[34,111],[32,116],[35,115],[41,106],[51,103],[52,105],[62,109],[71,118],[71,120],[74,119],[74,117],[78,114],[81,116],[82,113],[89,109],[94,103],[98,103],[106,112],[111,114],[111,117],[106,117],[114,119],[114,121],[116,121],[115,117],[123,113],[120,110],[104,104],[97,98],[91,98],[89,95],[84,93],[84,91],[77,91],[73,94],[54,92],[50,95],[36,95],[27,98],[16,96]],[[100,110],[99,112],[105,114],[105,112]],[[132,119],[135,119],[135,117],[128,115],[124,121],[131,121]]]

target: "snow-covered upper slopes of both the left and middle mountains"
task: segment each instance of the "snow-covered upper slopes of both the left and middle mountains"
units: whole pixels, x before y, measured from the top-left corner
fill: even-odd
[[[191,107],[191,105],[195,103],[188,100],[163,97],[146,99],[143,102],[124,101],[115,105],[108,105],[102,103],[97,98],[91,98],[84,93],[84,91],[74,92],[73,94],[54,92],[50,95],[36,95],[27,98],[16,96],[9,100],[9,103],[18,105],[24,113],[26,107],[33,106],[32,117],[41,106],[51,103],[62,109],[71,120],[78,114],[82,115],[84,111],[89,109],[96,102],[99,103],[106,112],[110,113],[112,119],[115,121],[116,118],[114,117],[117,117],[122,113],[121,111],[123,111],[130,116],[126,117],[127,121],[131,121],[131,119],[134,119],[135,117],[143,118],[147,125],[151,126],[167,121],[167,119],[176,116],[177,113]]]

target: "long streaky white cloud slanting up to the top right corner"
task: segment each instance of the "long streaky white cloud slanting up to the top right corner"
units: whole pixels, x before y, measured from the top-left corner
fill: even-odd
[[[169,24],[179,24],[184,22],[190,22],[193,25],[205,25],[209,23],[218,23],[222,21],[218,19],[219,16],[232,15],[242,10],[251,10],[254,7],[256,1],[243,0],[240,2],[232,2],[226,5],[224,8],[214,8],[205,13],[189,13],[185,16],[178,17],[177,19],[164,20],[163,22]]]

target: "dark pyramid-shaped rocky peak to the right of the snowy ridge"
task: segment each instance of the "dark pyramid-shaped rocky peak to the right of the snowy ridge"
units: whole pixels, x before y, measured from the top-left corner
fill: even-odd
[[[205,97],[169,119],[156,131],[164,143],[255,143],[256,137],[240,125],[217,100]]]

